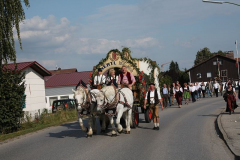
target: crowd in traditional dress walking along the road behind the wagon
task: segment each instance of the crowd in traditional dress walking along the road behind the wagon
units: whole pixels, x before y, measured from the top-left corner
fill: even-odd
[[[236,85],[236,83],[228,79],[226,83],[218,83],[217,80],[215,81],[208,81],[208,82],[196,82],[196,83],[184,83],[183,86],[179,84],[177,81],[172,85],[163,84],[161,89],[162,99],[163,99],[163,106],[164,108],[168,106],[176,104],[179,108],[181,108],[182,103],[185,102],[186,105],[189,104],[191,101],[192,103],[200,100],[201,98],[223,96],[224,100],[227,102],[226,104],[226,112],[229,114],[234,113],[234,109],[237,106],[236,100],[237,98],[240,99],[240,94],[236,93],[236,87],[239,88],[240,86],[240,79]]]

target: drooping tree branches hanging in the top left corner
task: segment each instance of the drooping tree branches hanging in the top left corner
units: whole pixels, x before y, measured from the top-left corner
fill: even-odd
[[[26,7],[29,1],[23,0]],[[13,28],[17,31],[18,41],[22,49],[19,24],[25,19],[25,13],[21,0],[1,0],[0,1],[0,67],[2,61],[7,63],[9,60],[16,62],[16,51],[14,44]],[[1,72],[0,70],[0,72]]]

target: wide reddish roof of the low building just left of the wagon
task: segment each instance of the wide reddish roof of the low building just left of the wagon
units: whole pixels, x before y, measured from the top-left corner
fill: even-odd
[[[44,77],[45,88],[75,86],[80,80],[88,84],[91,72],[92,71],[63,73]]]

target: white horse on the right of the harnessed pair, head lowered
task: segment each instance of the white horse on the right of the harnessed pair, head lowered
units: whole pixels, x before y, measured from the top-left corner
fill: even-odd
[[[130,134],[130,122],[132,118],[133,93],[129,88],[115,89],[114,86],[106,86],[97,93],[97,110],[103,112],[104,109],[116,109],[117,130],[122,133],[123,128],[120,119],[125,112],[126,117],[126,134]],[[112,136],[116,136],[113,114],[109,114],[110,123],[112,125]]]

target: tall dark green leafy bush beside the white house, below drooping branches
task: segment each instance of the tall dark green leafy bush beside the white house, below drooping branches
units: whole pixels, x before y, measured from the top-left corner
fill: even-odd
[[[25,103],[25,74],[16,68],[3,69],[0,76],[0,133],[10,133],[20,127]]]

